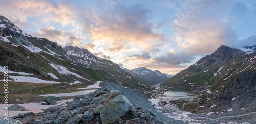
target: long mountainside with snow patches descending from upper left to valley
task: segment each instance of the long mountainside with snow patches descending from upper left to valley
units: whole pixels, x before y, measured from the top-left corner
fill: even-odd
[[[121,69],[110,60],[99,58],[74,46],[61,47],[46,38],[32,37],[15,26],[4,16],[0,16],[0,66],[8,66],[13,71],[12,81],[28,82],[39,80],[41,83],[92,83],[94,81],[115,82],[121,86],[145,88],[164,82],[168,78],[160,71],[148,73],[156,80],[146,79],[136,73]],[[3,75],[3,72],[0,73]],[[26,77],[26,78],[25,78]],[[3,79],[3,76],[0,80]],[[158,81],[159,80],[159,81]],[[144,85],[141,85],[144,84]]]

